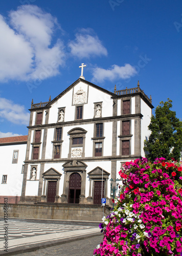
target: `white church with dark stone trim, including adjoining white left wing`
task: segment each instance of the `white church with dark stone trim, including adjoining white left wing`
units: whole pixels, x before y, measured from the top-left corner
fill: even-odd
[[[32,101],[24,142],[0,139],[0,151],[10,156],[0,163],[0,196],[92,205],[103,197],[110,204],[122,164],[145,156],[152,108],[139,82],[112,93],[83,76],[53,100]],[[15,177],[22,186],[13,192]]]

